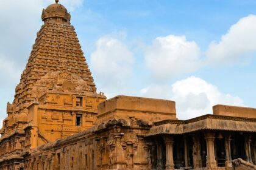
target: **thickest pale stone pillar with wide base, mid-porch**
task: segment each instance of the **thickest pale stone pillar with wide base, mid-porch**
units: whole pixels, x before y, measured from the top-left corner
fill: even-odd
[[[206,165],[207,168],[216,168],[217,163],[215,160],[215,150],[214,150],[214,132],[205,132],[205,140],[206,140],[206,145],[207,145],[207,161]]]

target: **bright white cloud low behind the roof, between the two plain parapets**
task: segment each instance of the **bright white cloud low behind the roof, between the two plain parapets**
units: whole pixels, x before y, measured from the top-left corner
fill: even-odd
[[[171,86],[153,85],[140,91],[144,97],[165,98],[176,101],[177,117],[182,120],[212,113],[215,104],[243,106],[243,100],[222,94],[218,87],[201,78],[188,77]]]

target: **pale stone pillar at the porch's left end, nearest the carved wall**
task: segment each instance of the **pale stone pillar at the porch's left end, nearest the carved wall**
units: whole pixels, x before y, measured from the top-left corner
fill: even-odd
[[[165,146],[166,146],[166,165],[165,169],[174,169],[174,161],[173,161],[173,151],[172,151],[172,146],[173,146],[173,137],[172,136],[165,136],[163,137],[165,140]]]

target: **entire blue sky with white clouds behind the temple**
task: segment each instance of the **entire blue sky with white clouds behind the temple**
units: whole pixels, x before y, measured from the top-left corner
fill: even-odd
[[[0,120],[43,24],[41,10],[53,2],[0,1]],[[256,107],[256,1],[60,3],[108,98],[174,100],[179,119],[211,114],[215,104]]]

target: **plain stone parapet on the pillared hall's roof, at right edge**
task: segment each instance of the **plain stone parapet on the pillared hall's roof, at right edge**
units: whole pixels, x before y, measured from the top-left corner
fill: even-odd
[[[218,104],[213,106],[213,115],[256,118],[256,109],[250,107],[227,106]]]

